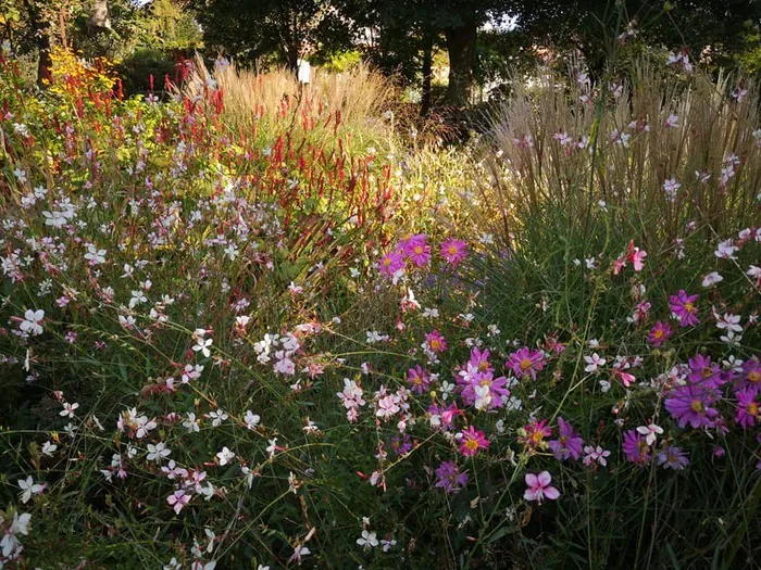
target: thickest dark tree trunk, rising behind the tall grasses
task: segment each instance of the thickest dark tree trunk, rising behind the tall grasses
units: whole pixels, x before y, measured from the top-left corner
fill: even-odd
[[[476,63],[476,18],[475,14],[463,14],[459,26],[444,30],[449,52],[449,87],[447,100],[450,104],[465,106],[471,101],[475,84],[473,71]]]

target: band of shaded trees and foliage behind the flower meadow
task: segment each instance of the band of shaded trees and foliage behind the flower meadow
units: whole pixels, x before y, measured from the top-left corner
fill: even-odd
[[[242,64],[291,68],[354,50],[419,83],[424,109],[437,51],[449,59],[447,100],[464,105],[489,62],[577,52],[596,74],[623,39],[758,71],[760,24],[761,0],[0,0],[0,38],[39,51],[40,79],[57,41],[123,55],[202,41]]]

